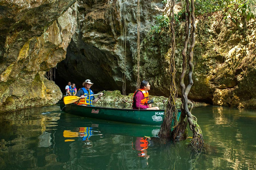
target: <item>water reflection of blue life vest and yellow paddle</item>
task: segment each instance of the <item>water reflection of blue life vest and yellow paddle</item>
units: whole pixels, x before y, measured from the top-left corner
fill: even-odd
[[[92,148],[93,142],[90,140],[91,136],[99,135],[102,137],[102,133],[100,131],[95,130],[93,127],[79,127],[72,132],[71,130],[64,130],[63,137],[65,138],[73,138],[78,137],[78,141],[82,141],[84,145],[83,148]],[[75,141],[75,139],[65,139],[65,142]]]

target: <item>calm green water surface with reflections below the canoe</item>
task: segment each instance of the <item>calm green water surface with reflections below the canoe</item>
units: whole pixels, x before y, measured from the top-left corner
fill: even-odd
[[[205,140],[200,154],[187,148],[189,139],[160,144],[158,126],[87,119],[59,106],[5,113],[0,169],[256,169],[256,110],[207,106],[192,113]]]

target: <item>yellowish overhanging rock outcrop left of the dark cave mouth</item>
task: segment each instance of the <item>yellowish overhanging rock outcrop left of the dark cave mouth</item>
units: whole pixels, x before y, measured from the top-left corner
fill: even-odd
[[[77,26],[70,0],[0,2],[0,112],[56,104],[46,71],[66,56]]]

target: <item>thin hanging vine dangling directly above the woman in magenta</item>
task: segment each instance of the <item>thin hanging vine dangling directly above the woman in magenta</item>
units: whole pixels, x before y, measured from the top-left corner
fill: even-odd
[[[140,86],[140,79],[139,79],[139,62],[140,62],[140,46],[141,46],[141,41],[140,41],[140,28],[141,28],[141,9],[139,7],[139,0],[137,0],[137,85],[136,89],[139,89]]]

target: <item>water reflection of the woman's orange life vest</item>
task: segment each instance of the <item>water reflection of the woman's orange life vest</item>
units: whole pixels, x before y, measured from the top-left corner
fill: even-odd
[[[132,148],[137,150],[137,157],[141,157],[141,166],[146,168],[148,166],[148,146],[154,146],[153,141],[150,137],[136,137],[135,142],[132,143]]]

